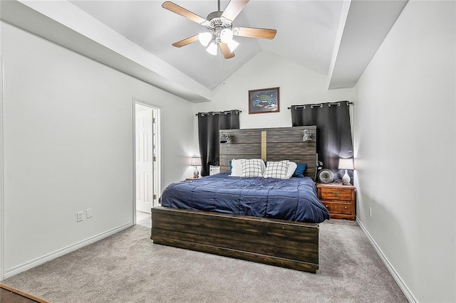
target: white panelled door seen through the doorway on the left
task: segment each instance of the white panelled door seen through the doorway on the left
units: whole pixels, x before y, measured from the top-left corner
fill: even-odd
[[[152,108],[135,104],[136,211],[150,213],[154,200],[154,130]]]

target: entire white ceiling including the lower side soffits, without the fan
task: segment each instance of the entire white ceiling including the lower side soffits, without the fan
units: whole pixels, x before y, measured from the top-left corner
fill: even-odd
[[[216,0],[173,0],[206,17]],[[233,0],[235,1],[235,0]],[[209,55],[198,42],[172,43],[204,26],[162,9],[163,1],[1,1],[1,18],[192,102],[262,50],[353,87],[407,0],[251,0],[234,26],[275,28],[274,40],[235,37],[236,56]],[[222,11],[229,1],[221,1]]]

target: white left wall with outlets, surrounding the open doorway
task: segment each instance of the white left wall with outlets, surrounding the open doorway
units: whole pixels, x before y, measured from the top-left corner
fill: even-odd
[[[191,171],[192,103],[4,22],[0,55],[6,276],[133,223],[133,97],[161,107],[162,186]]]

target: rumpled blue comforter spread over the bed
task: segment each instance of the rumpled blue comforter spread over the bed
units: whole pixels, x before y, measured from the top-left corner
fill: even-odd
[[[309,223],[329,219],[308,177],[283,180],[216,174],[170,184],[160,201],[165,207],[233,215]]]

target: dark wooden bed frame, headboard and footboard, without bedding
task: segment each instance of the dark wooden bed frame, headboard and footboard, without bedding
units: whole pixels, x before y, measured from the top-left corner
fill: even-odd
[[[303,130],[312,133],[303,142]],[[229,140],[220,144],[220,171],[231,159],[262,158],[307,164],[306,176],[316,171],[316,127],[224,129]],[[227,215],[176,208],[152,208],[154,243],[209,252],[294,270],[318,270],[318,224]]]

